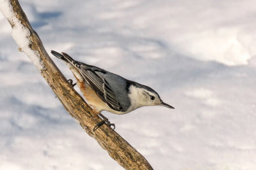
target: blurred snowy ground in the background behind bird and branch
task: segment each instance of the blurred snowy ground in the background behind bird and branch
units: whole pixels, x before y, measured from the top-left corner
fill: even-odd
[[[154,169],[256,169],[255,1],[20,4],[47,52],[148,85],[175,107],[103,113]],[[17,51],[2,14],[0,24],[0,169],[122,169]]]

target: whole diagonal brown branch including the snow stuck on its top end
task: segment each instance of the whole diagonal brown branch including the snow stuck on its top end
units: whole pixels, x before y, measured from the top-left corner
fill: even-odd
[[[143,155],[107,125],[102,125],[93,132],[93,127],[100,122],[100,118],[67,83],[66,78],[52,62],[39,36],[29,24],[19,1],[0,0],[0,10],[12,26],[12,36],[19,49],[32,60],[65,109],[80,123],[84,131],[96,139],[99,145],[125,169],[153,169]]]

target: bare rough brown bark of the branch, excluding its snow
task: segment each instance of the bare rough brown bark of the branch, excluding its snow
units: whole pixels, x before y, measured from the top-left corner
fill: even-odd
[[[93,127],[95,127],[101,119],[93,113],[90,106],[85,103],[83,97],[79,96],[76,90],[67,83],[66,78],[58,67],[56,67],[54,62],[52,62],[38,34],[36,34],[29,24],[28,18],[20,7],[19,1],[10,0],[10,3],[12,4],[13,11],[16,13],[16,17],[21,21],[22,25],[27,27],[31,32],[30,37],[28,37],[31,39],[30,47],[40,54],[40,59],[44,64],[44,69],[40,70],[40,73],[56,96],[58,96],[58,99],[60,99],[68,113],[79,122],[84,131],[97,140],[99,145],[125,169],[152,169],[143,155],[136,151],[125,139],[107,125],[102,125],[97,131],[93,132]],[[10,22],[10,24],[12,27],[14,26],[12,22]]]

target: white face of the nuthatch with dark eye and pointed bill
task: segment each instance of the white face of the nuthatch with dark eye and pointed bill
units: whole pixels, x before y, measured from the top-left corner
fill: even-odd
[[[163,103],[159,95],[155,92],[148,91],[146,89],[131,87],[131,94],[129,97],[131,99],[131,104],[134,108],[140,108],[142,106],[165,106],[167,108],[173,108],[172,106]]]

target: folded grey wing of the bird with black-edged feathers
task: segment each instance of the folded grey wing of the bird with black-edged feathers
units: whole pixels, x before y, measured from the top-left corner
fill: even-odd
[[[128,110],[130,101],[125,78],[81,62],[77,67],[90,87],[110,108],[121,112]]]

